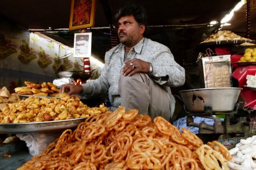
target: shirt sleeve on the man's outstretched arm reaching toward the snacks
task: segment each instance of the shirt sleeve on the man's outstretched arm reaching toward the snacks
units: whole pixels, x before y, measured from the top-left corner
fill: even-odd
[[[106,56],[108,53],[106,53]],[[106,59],[105,56],[105,59]],[[85,84],[82,84],[83,86],[83,93],[82,95],[85,95],[86,97],[93,97],[97,95],[102,95],[106,92],[108,92],[109,84],[108,84],[108,63],[105,60],[105,64],[101,70],[100,77],[93,81],[88,81]]]

